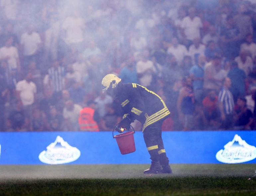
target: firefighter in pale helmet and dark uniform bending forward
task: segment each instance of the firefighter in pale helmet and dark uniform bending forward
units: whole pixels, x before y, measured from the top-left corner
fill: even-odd
[[[123,119],[117,130],[129,129],[135,119],[143,124],[143,137],[152,160],[144,173],[172,173],[162,140],[162,123],[170,115],[163,99],[141,85],[122,83],[114,74],[107,74],[101,84],[103,92],[121,105]]]

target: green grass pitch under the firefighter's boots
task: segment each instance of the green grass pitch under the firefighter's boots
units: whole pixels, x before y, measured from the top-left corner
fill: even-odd
[[[2,195],[256,195],[256,164],[172,164],[145,175],[145,164],[0,165]]]

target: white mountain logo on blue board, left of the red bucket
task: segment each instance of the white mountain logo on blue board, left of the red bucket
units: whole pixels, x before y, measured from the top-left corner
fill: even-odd
[[[47,164],[70,163],[80,157],[80,151],[70,146],[60,136],[57,136],[55,142],[47,146],[46,149],[46,151],[40,153],[39,160]]]

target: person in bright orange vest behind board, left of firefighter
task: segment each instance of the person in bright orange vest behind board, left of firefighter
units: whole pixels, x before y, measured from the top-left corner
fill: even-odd
[[[90,100],[87,107],[84,107],[79,114],[80,131],[99,131],[97,122],[95,121],[95,102]]]

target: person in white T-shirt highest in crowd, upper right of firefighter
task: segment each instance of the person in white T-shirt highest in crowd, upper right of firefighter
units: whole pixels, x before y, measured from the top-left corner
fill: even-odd
[[[202,22],[199,17],[195,16],[195,8],[189,9],[189,16],[184,17],[181,28],[183,35],[191,41],[196,37],[201,37]]]

